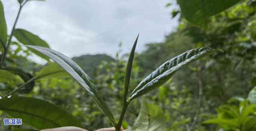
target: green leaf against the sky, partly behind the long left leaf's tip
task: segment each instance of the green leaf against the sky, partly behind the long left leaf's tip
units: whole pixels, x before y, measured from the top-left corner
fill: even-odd
[[[50,48],[47,42],[42,40],[39,36],[36,36],[35,34],[30,33],[29,31],[23,30],[23,29],[15,29],[14,30],[14,36],[18,39],[19,42],[21,42],[23,45],[35,45],[35,46],[42,46],[46,48]],[[44,58],[45,60],[49,60],[48,57],[45,55],[42,55],[38,51],[31,49],[33,53],[38,55],[41,58]]]

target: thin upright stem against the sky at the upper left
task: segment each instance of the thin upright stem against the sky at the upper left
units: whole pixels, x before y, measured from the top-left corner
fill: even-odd
[[[10,37],[9,37],[9,39],[8,39],[8,42],[7,42],[6,46],[5,46],[4,52],[3,52],[3,54],[2,54],[2,58],[1,58],[1,62],[0,62],[0,68],[2,68],[2,67],[3,67],[3,64],[5,63],[6,55],[8,54],[8,50],[9,50],[9,47],[10,47],[10,45],[11,45],[12,36],[13,36],[14,30],[15,30],[15,27],[16,27],[16,25],[17,25],[18,19],[19,19],[19,17],[20,17],[21,9],[22,9],[22,7],[23,7],[26,3],[27,3],[27,1],[25,1],[24,4],[20,4],[20,9],[19,9],[19,12],[18,12],[18,14],[17,14],[17,17],[16,17],[16,19],[15,19],[14,25],[13,25],[13,27],[12,27],[11,35],[10,35]],[[3,44],[2,44],[2,45],[3,45]]]

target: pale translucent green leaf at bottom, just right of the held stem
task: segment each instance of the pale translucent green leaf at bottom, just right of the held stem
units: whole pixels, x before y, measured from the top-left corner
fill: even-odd
[[[165,131],[166,117],[161,107],[144,101],[133,131]]]

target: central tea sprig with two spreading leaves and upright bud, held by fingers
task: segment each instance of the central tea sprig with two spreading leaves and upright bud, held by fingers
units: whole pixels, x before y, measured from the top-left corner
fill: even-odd
[[[139,36],[138,36],[139,37]],[[162,64],[158,67],[155,71],[153,71],[149,76],[140,82],[140,84],[131,92],[128,97],[129,91],[129,83],[130,83],[130,76],[131,76],[131,67],[133,63],[133,57],[135,48],[137,45],[137,40],[134,42],[132,51],[130,53],[130,57],[127,64],[126,75],[125,75],[125,93],[123,97],[123,109],[120,114],[119,121],[116,123],[113,114],[111,113],[110,109],[108,108],[107,104],[103,101],[101,94],[98,92],[97,88],[93,85],[92,81],[90,80],[89,76],[70,58],[66,57],[65,55],[61,54],[60,52],[53,51],[49,48],[39,47],[39,46],[27,46],[29,48],[33,48],[36,51],[41,52],[44,55],[50,57],[53,61],[59,64],[64,70],[66,70],[77,82],[86,89],[90,95],[93,97],[95,102],[101,108],[101,110],[105,113],[105,115],[110,119],[113,126],[116,128],[117,131],[120,131],[123,117],[125,115],[126,109],[129,104],[135,98],[138,98],[156,88],[161,86],[165,83],[172,75],[182,66],[191,63],[193,61],[198,60],[206,55],[214,53],[216,50],[212,48],[199,48],[199,49],[192,49],[190,51],[184,52],[181,55],[178,55],[175,58],[167,61],[166,63]]]

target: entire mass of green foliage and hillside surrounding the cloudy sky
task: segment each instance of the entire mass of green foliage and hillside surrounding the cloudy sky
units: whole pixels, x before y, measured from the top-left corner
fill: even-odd
[[[0,1],[0,121],[24,122],[0,130],[256,131],[256,1],[177,3],[178,29],[163,42],[137,54],[138,36],[130,54],[70,59],[16,29],[20,11],[7,34]],[[32,63],[32,53],[48,63]]]

